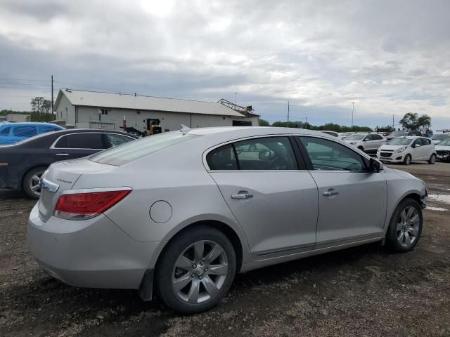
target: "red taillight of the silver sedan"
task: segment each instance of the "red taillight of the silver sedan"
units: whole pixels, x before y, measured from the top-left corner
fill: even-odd
[[[54,215],[68,220],[94,218],[127,197],[131,189],[61,194]]]

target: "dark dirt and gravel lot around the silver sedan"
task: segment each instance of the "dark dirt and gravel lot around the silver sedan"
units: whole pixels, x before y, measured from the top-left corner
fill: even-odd
[[[189,317],[49,277],[26,247],[34,201],[0,191],[0,336],[450,336],[450,204],[435,197],[450,194],[450,164],[406,171],[433,198],[412,252],[372,244],[238,275],[221,305]]]

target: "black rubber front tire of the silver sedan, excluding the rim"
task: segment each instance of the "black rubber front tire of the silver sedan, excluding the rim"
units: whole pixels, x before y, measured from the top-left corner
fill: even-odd
[[[401,211],[403,211],[406,206],[414,206],[418,211],[420,219],[420,227],[416,237],[416,241],[408,248],[401,246],[399,240],[397,239],[397,220],[400,216]],[[395,209],[394,214],[392,214],[392,218],[390,220],[389,227],[387,228],[386,232],[386,245],[392,251],[396,251],[398,253],[406,253],[407,251],[411,251],[418,243],[420,239],[420,234],[422,234],[422,229],[423,229],[423,213],[420,204],[414,199],[406,198],[400,202],[399,206],[397,206],[397,209]]]

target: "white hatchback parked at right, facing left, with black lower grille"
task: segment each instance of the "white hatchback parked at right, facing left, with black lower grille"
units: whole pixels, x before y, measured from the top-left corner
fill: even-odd
[[[430,138],[425,137],[398,137],[380,147],[377,151],[380,161],[391,163],[411,164],[411,161],[423,160],[428,164],[435,164],[436,150]]]

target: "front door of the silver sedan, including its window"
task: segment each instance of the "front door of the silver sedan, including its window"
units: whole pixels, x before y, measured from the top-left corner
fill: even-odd
[[[319,191],[317,244],[381,235],[387,207],[383,173],[354,150],[319,137],[297,138]]]

